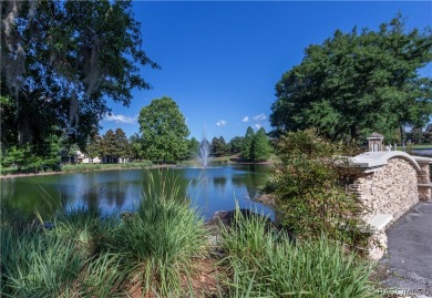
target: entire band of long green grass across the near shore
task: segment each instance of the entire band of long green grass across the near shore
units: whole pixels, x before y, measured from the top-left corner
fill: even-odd
[[[210,245],[176,176],[161,173],[123,217],[81,208],[47,228],[1,209],[0,296],[377,297],[368,261],[326,237],[292,242],[264,216],[237,208]]]

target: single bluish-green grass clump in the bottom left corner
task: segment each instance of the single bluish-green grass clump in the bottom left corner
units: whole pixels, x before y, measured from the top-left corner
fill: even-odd
[[[85,263],[74,254],[73,240],[18,232],[4,223],[0,233],[2,297],[60,297],[72,288]]]

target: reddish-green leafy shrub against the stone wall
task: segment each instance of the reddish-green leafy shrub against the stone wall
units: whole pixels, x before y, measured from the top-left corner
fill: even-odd
[[[368,235],[360,230],[360,201],[346,191],[353,174],[348,157],[356,147],[331,143],[312,131],[282,135],[276,144],[282,163],[275,167],[277,209],[284,225],[309,238],[326,233],[359,245]]]

